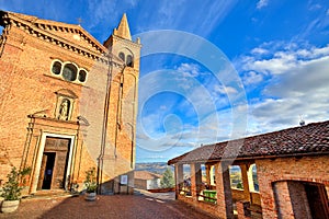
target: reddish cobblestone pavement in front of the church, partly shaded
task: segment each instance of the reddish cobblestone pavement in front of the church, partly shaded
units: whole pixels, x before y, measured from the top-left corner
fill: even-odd
[[[86,201],[83,196],[23,199],[15,212],[0,214],[0,218],[211,219],[212,217],[178,200],[139,194],[98,196],[95,201]]]

